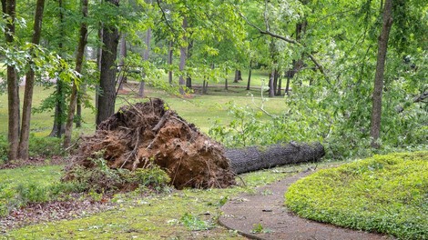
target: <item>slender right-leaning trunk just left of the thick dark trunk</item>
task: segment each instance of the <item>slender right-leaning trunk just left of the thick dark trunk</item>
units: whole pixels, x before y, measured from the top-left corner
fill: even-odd
[[[87,0],[81,0],[82,15],[84,19],[87,18]],[[87,24],[83,21],[80,24],[79,42],[77,45],[76,54],[76,72],[82,73],[83,57],[85,55],[85,46],[87,45]],[[66,118],[66,134],[64,135],[64,148],[68,148],[71,142],[71,133],[73,131],[73,119],[75,117],[77,103],[77,85],[76,81],[73,82],[73,87],[70,96],[70,105],[68,106],[68,115]]]

